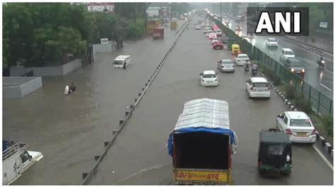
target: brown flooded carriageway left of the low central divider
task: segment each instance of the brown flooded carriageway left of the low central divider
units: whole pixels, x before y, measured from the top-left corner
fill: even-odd
[[[94,155],[101,154],[103,142],[177,38],[177,30],[164,32],[163,40],[126,41],[121,50],[96,54],[94,64],[43,78],[43,88],[25,98],[3,100],[3,138],[28,143],[44,155],[14,184],[81,182],[82,172],[94,165]],[[131,57],[126,70],[113,69],[120,54]],[[72,82],[77,90],[65,96],[64,87]]]

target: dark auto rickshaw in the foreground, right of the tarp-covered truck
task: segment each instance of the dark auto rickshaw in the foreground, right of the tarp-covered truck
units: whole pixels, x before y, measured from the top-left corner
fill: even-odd
[[[279,129],[260,132],[258,154],[259,175],[279,176],[291,173],[291,141]]]

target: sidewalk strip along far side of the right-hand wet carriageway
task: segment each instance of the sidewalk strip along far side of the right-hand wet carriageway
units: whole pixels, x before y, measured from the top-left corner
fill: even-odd
[[[308,40],[306,42],[307,37],[296,37],[296,36],[286,36],[287,38],[291,40],[296,40],[298,42],[301,42],[305,45],[311,46],[311,47],[316,47],[318,49],[323,49],[325,52],[328,52],[330,54],[333,54],[333,48],[334,48],[334,43],[332,40],[327,40],[325,38],[321,37],[316,37],[315,42],[311,42],[311,40]]]

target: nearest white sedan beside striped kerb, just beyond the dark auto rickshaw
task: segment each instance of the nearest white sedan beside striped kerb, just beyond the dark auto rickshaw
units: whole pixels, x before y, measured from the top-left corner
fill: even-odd
[[[291,142],[315,143],[316,130],[305,112],[288,111],[276,117],[276,127],[284,131]]]

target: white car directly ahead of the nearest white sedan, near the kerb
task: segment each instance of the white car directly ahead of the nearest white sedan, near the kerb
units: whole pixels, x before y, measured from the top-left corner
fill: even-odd
[[[246,91],[249,98],[270,98],[271,87],[263,77],[252,77],[246,81]]]

